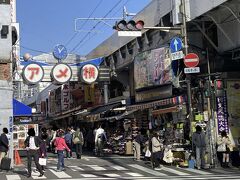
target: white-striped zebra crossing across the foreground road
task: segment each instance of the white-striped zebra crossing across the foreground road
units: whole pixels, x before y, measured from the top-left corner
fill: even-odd
[[[15,171],[14,174],[0,174],[1,180],[26,179],[27,170]],[[65,171],[58,172],[56,166],[48,166],[43,177],[38,177],[39,172],[33,171],[30,179],[240,179],[238,169],[209,169],[197,170],[189,168],[178,168],[163,166],[160,170],[139,164],[122,165],[96,165],[81,164],[79,166],[69,165]]]

